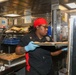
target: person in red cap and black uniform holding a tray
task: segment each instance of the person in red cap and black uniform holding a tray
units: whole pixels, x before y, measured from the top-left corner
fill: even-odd
[[[48,24],[45,18],[37,18],[33,26],[29,28],[29,33],[25,34],[16,47],[16,54],[25,53],[26,75],[54,75],[51,56],[59,55],[67,48],[51,52],[53,47],[44,47],[34,44],[34,42],[51,42],[47,35]],[[49,50],[48,50],[49,49]]]

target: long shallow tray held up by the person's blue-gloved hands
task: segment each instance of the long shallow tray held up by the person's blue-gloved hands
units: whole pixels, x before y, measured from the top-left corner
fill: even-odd
[[[40,46],[68,46],[68,42],[34,42]]]

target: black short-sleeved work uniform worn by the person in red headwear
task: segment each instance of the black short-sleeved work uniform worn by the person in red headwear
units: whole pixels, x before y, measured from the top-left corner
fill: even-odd
[[[30,41],[49,42],[52,40],[48,36],[39,39],[37,35],[32,32],[26,34],[19,42],[19,45],[24,47],[28,45]],[[54,75],[50,51],[51,47],[48,50],[47,47],[43,46],[37,47],[34,51],[29,51],[29,64],[31,68],[26,75]]]

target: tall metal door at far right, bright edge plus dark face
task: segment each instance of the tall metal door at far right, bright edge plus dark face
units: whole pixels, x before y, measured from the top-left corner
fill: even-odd
[[[76,69],[74,68],[76,65],[76,62],[74,59],[75,57],[75,31],[74,28],[76,28],[76,16],[70,16],[70,24],[69,24],[69,50],[68,50],[68,75],[74,75],[76,73]],[[74,64],[75,63],[75,64]]]

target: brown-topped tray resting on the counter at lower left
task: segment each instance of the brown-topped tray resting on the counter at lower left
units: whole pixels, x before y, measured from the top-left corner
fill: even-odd
[[[0,60],[3,61],[4,64],[11,65],[13,63],[25,60],[25,54],[23,55],[16,55],[15,53],[0,54]]]

